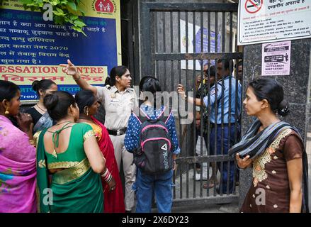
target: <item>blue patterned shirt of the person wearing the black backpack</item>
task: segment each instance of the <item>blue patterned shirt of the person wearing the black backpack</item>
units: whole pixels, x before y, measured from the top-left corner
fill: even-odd
[[[154,108],[152,106],[146,106],[142,104],[140,106],[140,109],[142,109],[142,111],[144,111],[149,116],[149,118],[155,120],[157,119],[159,114],[161,114],[161,112],[164,110],[164,106],[162,106],[162,109],[157,109],[154,111]],[[181,150],[179,148],[179,141],[176,133],[175,120],[172,113],[169,115],[169,119],[166,122],[166,126],[169,130],[169,135],[171,136],[172,153],[178,155],[181,152]],[[140,121],[138,121],[137,118],[133,114],[131,114],[130,120],[128,121],[128,129],[126,131],[124,140],[125,148],[126,150],[128,150],[128,152],[132,153],[135,148],[138,148],[140,142],[139,136],[140,136]]]

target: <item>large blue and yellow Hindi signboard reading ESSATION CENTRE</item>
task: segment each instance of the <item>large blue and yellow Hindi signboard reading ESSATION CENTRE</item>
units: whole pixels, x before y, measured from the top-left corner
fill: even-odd
[[[75,94],[79,87],[59,65],[70,59],[89,84],[104,84],[108,72],[121,65],[120,1],[81,4],[84,33],[72,26],[43,21],[43,13],[25,11],[18,1],[2,1],[0,11],[0,79],[21,88],[21,100],[38,99],[35,80],[52,79],[59,90]]]

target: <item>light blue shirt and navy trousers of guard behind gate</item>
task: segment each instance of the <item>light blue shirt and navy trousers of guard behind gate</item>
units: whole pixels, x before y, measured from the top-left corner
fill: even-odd
[[[210,89],[210,94],[204,97],[203,101],[205,106],[210,107],[211,109],[210,123],[212,123],[213,126],[212,131],[210,132],[211,154],[221,155],[223,152],[224,155],[227,155],[229,148],[234,145],[234,142],[236,142],[234,141],[234,134],[236,134],[237,138],[239,138],[240,126],[238,124],[237,128],[235,128],[234,123],[236,121],[238,123],[239,120],[242,105],[241,95],[241,84],[239,82],[236,82],[236,79],[234,77],[227,76],[223,80],[220,80],[219,82],[214,84],[214,86]],[[235,103],[236,98],[237,103]],[[217,103],[217,114],[215,114],[215,103]],[[231,123],[230,127],[229,123]],[[230,162],[229,168],[227,166],[228,163],[223,162],[222,170],[220,170],[220,162],[217,162],[218,170],[222,171],[222,193],[227,193],[228,178],[230,184],[229,193],[232,193],[234,189],[234,163]]]

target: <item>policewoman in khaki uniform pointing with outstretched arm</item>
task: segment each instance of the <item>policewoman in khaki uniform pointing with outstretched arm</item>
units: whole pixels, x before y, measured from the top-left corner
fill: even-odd
[[[71,75],[81,89],[93,92],[105,108],[105,126],[115,149],[119,172],[121,160],[123,162],[125,211],[130,212],[135,202],[135,192],[132,190],[132,184],[135,182],[135,165],[132,165],[132,153],[125,149],[124,139],[130,115],[138,106],[135,90],[130,88],[132,81],[130,71],[125,66],[113,67],[110,72],[110,84],[105,87],[91,86],[81,78],[77,67],[70,60],[67,63],[60,65],[64,67],[64,72]]]

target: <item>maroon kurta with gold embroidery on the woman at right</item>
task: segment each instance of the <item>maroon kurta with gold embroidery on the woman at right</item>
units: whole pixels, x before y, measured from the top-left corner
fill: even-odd
[[[254,159],[253,182],[241,211],[288,213],[290,181],[287,162],[301,159],[303,150],[300,136],[291,129],[278,135],[275,142]]]

